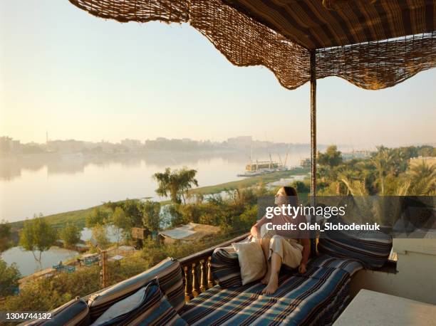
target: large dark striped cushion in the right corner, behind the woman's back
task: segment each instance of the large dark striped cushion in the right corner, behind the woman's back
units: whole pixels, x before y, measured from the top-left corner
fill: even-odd
[[[321,253],[354,259],[365,268],[383,266],[391,249],[392,237],[379,231],[323,231],[318,242]]]

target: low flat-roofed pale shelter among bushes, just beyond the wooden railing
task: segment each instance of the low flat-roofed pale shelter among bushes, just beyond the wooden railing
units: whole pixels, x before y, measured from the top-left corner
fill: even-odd
[[[170,228],[168,230],[160,231],[159,237],[162,242],[167,244],[175,243],[175,241],[189,243],[198,241],[205,236],[218,233],[219,229],[219,226],[191,222],[177,228]]]

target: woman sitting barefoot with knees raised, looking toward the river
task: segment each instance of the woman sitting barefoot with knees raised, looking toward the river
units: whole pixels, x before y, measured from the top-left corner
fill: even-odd
[[[298,196],[296,189],[291,186],[283,186],[277,191],[275,204],[278,206],[288,205],[298,206]],[[266,224],[270,226],[294,224],[294,230],[272,231],[266,230]],[[266,274],[261,280],[266,284],[262,293],[273,294],[279,287],[279,271],[281,264],[290,268],[299,267],[299,273],[306,273],[306,263],[311,251],[308,231],[301,231],[300,223],[306,223],[306,218],[302,215],[289,216],[286,210],[281,210],[281,214],[274,214],[269,219],[262,217],[251,228],[253,241],[260,241],[262,250],[267,263]]]

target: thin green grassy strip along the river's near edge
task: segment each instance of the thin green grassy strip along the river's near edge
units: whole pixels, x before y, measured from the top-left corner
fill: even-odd
[[[219,194],[222,191],[246,188],[256,184],[268,184],[275,182],[282,178],[289,178],[294,175],[307,174],[308,169],[297,169],[294,171],[281,171],[270,174],[265,174],[257,177],[249,177],[234,182],[225,182],[224,184],[217,184],[214,186],[200,186],[199,188],[192,189],[193,194]],[[161,201],[160,204],[170,204],[170,201]],[[46,216],[47,221],[53,224],[56,228],[62,228],[68,222],[73,222],[77,226],[85,227],[85,218],[91,214],[95,208],[102,208],[103,205],[93,206],[88,209],[80,209],[78,211],[67,211],[65,213],[58,213]],[[13,231],[19,231],[23,227],[24,221],[17,221],[10,223]]]

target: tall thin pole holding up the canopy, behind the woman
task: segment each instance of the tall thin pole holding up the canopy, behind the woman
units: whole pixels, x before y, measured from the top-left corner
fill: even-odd
[[[316,50],[311,50],[311,206],[316,201]],[[316,224],[316,216],[311,216]],[[311,231],[311,256],[316,255],[316,231]]]

